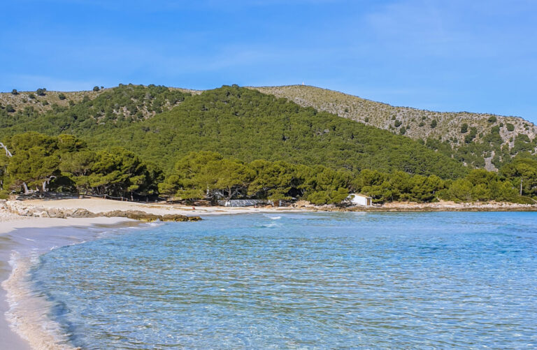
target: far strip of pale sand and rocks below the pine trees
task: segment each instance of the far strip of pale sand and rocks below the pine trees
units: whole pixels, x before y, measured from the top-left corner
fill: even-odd
[[[9,212],[10,219],[2,219],[2,212]],[[287,207],[223,207],[187,205],[170,203],[122,202],[103,198],[70,198],[53,200],[8,200],[0,201],[0,221],[13,221],[31,217],[125,217],[125,213],[142,213],[149,217],[182,217],[195,220],[196,217],[220,214],[248,214],[259,212],[537,212],[537,204],[519,204],[508,202],[461,202],[440,200],[435,203],[389,202],[368,207],[338,207],[336,205],[312,205],[298,201]],[[130,216],[129,216],[130,217]],[[138,219],[138,217],[134,217]],[[161,219],[162,219],[161,218]],[[141,218],[144,220],[143,218]],[[148,218],[152,221],[155,218]],[[165,219],[165,218],[164,218]],[[147,220],[146,220],[147,221]],[[164,220],[186,221],[186,220]],[[4,225],[3,225],[4,226]],[[15,226],[14,226],[15,227]],[[24,226],[18,226],[24,227]],[[6,228],[0,226],[0,234]]]

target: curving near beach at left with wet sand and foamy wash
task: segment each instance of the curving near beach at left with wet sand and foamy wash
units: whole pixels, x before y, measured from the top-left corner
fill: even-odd
[[[25,218],[0,226],[0,339],[6,349],[73,349],[58,340],[65,337],[46,317],[47,300],[29,289],[29,272],[46,252],[99,238],[104,232],[138,226],[135,220]]]

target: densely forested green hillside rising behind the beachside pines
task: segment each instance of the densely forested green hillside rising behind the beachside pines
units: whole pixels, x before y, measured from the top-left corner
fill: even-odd
[[[147,111],[155,115],[146,117]],[[188,152],[203,150],[242,161],[283,160],[352,171],[403,170],[444,178],[466,173],[461,163],[405,136],[237,86],[192,95],[123,85],[47,112],[3,112],[0,125],[0,138],[23,131],[72,133],[90,147],[125,147],[164,170]]]

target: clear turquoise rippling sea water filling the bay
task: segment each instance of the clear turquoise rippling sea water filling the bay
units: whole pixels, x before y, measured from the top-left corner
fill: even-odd
[[[531,349],[537,214],[208,217],[41,257],[83,349]]]

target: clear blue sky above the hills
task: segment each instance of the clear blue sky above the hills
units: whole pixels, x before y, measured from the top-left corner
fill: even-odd
[[[4,1],[0,91],[305,82],[537,123],[537,1]]]

